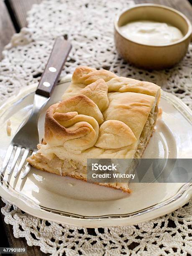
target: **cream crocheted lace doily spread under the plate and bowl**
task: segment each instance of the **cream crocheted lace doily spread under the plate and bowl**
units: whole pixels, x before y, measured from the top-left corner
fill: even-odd
[[[37,82],[54,39],[63,35],[73,45],[62,75],[78,65],[108,69],[118,75],[155,82],[192,108],[192,46],[172,69],[143,71],[121,59],[113,42],[113,20],[134,4],[130,0],[46,0],[33,5],[28,27],[15,34],[0,62],[0,100]],[[51,255],[191,255],[192,200],[168,215],[119,228],[74,228],[40,220],[9,202],[2,212],[16,238]]]

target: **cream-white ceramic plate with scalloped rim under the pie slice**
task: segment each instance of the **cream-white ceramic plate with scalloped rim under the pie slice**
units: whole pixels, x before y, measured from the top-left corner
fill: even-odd
[[[71,76],[61,79],[48,105],[61,100],[70,81]],[[12,136],[30,114],[36,86],[22,89],[0,107],[0,166]],[[192,112],[178,98],[163,91],[160,106],[163,115],[157,121],[156,132],[143,157],[191,158]],[[40,140],[46,108],[38,121]],[[6,133],[8,119],[11,137]],[[20,176],[17,179],[12,175],[8,177],[7,171],[4,175],[5,182],[0,185],[3,198],[36,217],[82,227],[130,225],[151,220],[181,207],[192,195],[192,185],[183,183],[132,183],[133,193],[128,195],[36,169],[23,180]]]

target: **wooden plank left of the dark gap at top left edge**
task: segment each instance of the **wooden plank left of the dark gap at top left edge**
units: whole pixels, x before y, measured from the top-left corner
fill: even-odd
[[[2,59],[3,48],[9,43],[13,33],[15,33],[15,29],[8,14],[8,10],[3,0],[0,0],[0,60]]]

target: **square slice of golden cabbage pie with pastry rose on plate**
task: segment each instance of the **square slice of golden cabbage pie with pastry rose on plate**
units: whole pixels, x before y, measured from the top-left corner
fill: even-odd
[[[154,131],[159,86],[82,66],[62,98],[46,112],[32,166],[86,181],[87,159],[141,158]],[[131,192],[128,183],[99,184]]]

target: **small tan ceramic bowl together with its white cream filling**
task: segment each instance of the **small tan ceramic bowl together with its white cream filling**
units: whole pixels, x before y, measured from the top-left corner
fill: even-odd
[[[119,55],[144,69],[164,69],[177,64],[187,53],[191,35],[188,18],[164,5],[134,5],[114,21]]]

